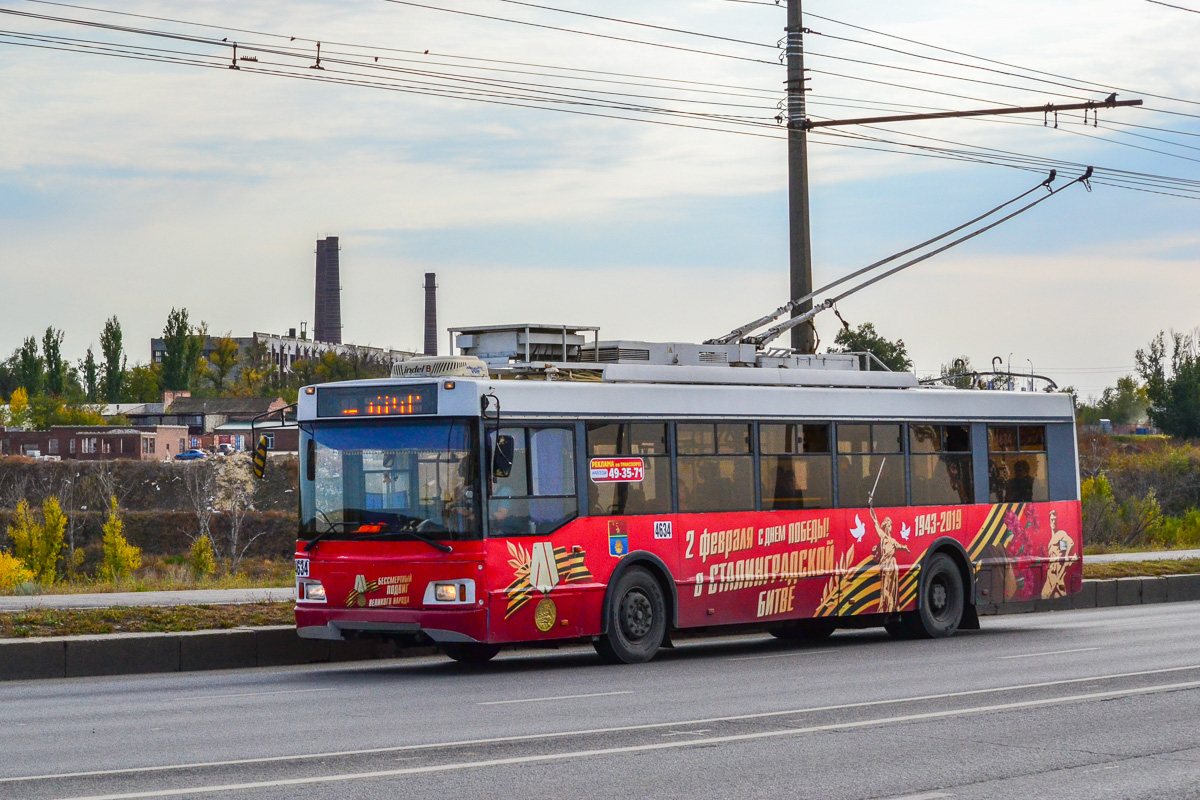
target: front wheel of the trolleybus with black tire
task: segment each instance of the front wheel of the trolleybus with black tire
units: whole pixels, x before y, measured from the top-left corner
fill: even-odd
[[[626,570],[610,590],[607,631],[595,642],[606,663],[636,664],[654,657],[667,633],[662,587],[642,567]]]

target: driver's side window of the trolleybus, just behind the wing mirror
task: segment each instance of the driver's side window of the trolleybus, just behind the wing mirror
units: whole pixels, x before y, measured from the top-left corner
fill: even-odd
[[[575,432],[571,428],[500,428],[512,438],[512,468],[491,477],[487,518],[493,536],[544,536],[578,516]],[[487,432],[488,449],[496,431]]]

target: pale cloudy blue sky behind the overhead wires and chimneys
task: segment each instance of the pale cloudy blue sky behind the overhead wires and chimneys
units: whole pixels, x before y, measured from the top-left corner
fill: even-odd
[[[145,361],[173,307],[186,307],[215,333],[281,333],[301,323],[311,330],[314,242],[328,235],[342,243],[343,337],[360,344],[419,349],[425,272],[438,276],[442,329],[534,321],[599,325],[601,338],[701,341],[788,299],[786,144],[773,122],[785,78],[774,49],[781,7],[542,4],[740,40],[731,42],[503,0],[426,4],[708,52],[701,54],[389,0],[80,5],[86,8],[0,0],[0,11],[110,26],[0,14],[0,355],[53,325],[65,331],[65,354],[79,359],[115,314],[131,363]],[[1102,110],[1099,127],[1063,115],[1056,130],[1038,114],[841,131],[1200,179],[1200,73],[1192,66],[1200,13],[1146,0],[808,0],[804,10],[836,20],[805,19],[816,31],[806,37],[812,119],[880,113],[863,107],[1099,100],[1108,92],[1093,84],[1120,86],[1122,100],[1145,97],[1146,106]],[[53,35],[106,43],[95,47],[186,50],[218,67],[232,56],[227,46],[112,26],[311,55],[264,54],[230,71],[17,46],[47,43],[17,35]],[[1069,80],[1051,78],[1067,84],[1057,86],[972,70],[961,64],[984,62],[880,34]],[[385,66],[480,78],[502,73],[470,67],[521,70],[503,74],[571,91],[650,95],[656,100],[641,102],[738,114],[757,125],[678,116],[673,126],[650,125],[264,74],[272,59],[289,62],[292,74],[335,74],[328,62],[326,71],[307,70],[318,40],[326,54],[379,55]],[[626,83],[584,84],[565,77],[600,72],[637,78],[605,74]],[[1091,91],[1081,92],[1080,82]],[[701,84],[724,94],[680,90]],[[814,136],[810,145],[817,285],[966,222],[1045,176],[907,148],[833,146],[854,142]],[[1159,330],[1200,325],[1200,203],[1103,181],[1092,190],[1072,187],[846,299],[839,312],[852,325],[871,321],[902,338],[922,374],[962,355],[977,367],[1000,356],[1014,371],[1032,368],[1085,397],[1098,395],[1133,372],[1135,350]],[[830,313],[818,318],[822,349],[839,327]]]

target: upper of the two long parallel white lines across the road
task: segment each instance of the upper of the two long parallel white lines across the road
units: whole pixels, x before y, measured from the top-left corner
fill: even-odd
[[[724,717],[706,717],[702,720],[677,720],[676,722],[648,722],[644,724],[617,726],[611,728],[587,728],[583,730],[560,730],[552,733],[529,733],[517,736],[492,736],[487,739],[463,739],[458,741],[438,741],[426,745],[395,745],[391,747],[368,747],[362,750],[340,750],[323,753],[301,753],[299,756],[266,756],[262,758],[235,758],[220,762],[192,762],[187,764],[163,764],[160,766],[128,766],[114,770],[89,770],[85,772],[58,772],[48,775],[25,775],[20,777],[0,778],[0,784],[20,783],[28,781],[50,781],[68,777],[96,777],[101,775],[132,775],[138,772],[167,772],[176,770],[208,769],[214,766],[244,766],[247,764],[272,764],[277,762],[302,762],[318,758],[342,758],[346,756],[374,756],[378,753],[400,753],[416,750],[440,750],[445,747],[470,747],[475,745],[494,745],[502,742],[530,741],[535,739],[564,739],[569,736],[584,736],[605,733],[624,733],[628,730],[654,730],[659,728],[682,728],[686,726],[706,724],[712,722],[740,722],[744,720],[766,720],[769,717],[794,716],[798,714],[820,714],[822,711],[845,711],[848,709],[872,708],[877,705],[899,705],[905,703],[922,703],[926,700],[944,700],[955,697],[973,697],[977,694],[996,694],[1000,692],[1015,692],[1026,688],[1048,688],[1050,686],[1069,686],[1072,684],[1087,684],[1098,680],[1115,680],[1118,678],[1145,678],[1147,675],[1165,675],[1177,672],[1198,670],[1200,664],[1188,667],[1165,667],[1162,669],[1144,669],[1139,672],[1112,673],[1109,675],[1093,675],[1091,678],[1067,678],[1063,680],[1049,680],[1037,684],[1016,684],[1013,686],[998,686],[995,688],[972,688],[962,692],[947,692],[943,694],[919,694],[916,697],[900,697],[890,700],[865,700],[862,703],[841,703],[838,705],[818,705],[806,709],[788,709],[785,711],[760,711],[757,714],[738,714]]]

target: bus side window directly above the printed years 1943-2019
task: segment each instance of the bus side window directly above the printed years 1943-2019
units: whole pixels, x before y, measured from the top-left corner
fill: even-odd
[[[913,505],[974,503],[971,426],[910,425],[908,452]]]

